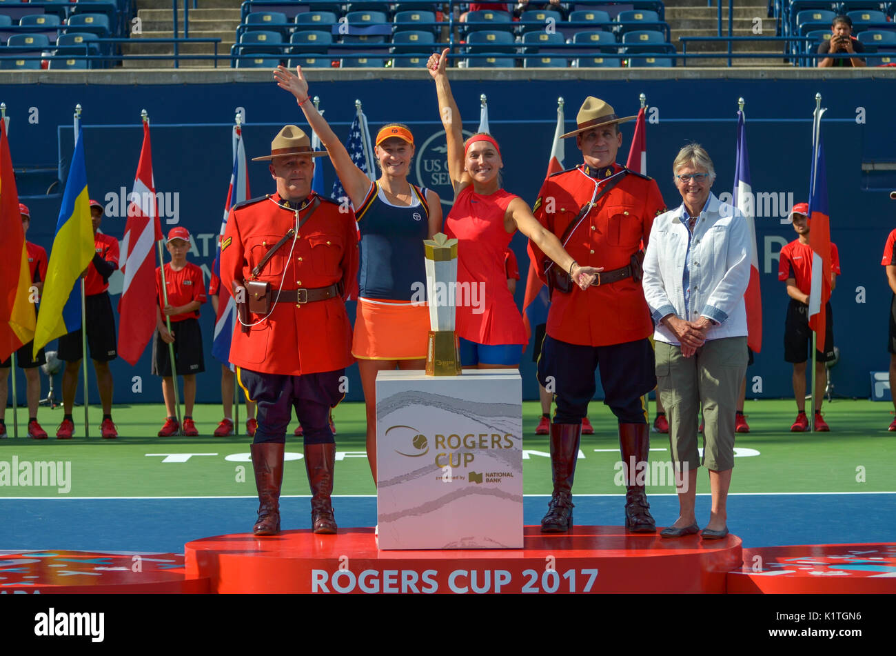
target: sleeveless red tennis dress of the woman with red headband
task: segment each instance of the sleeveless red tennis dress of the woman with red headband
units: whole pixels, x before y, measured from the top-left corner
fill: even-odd
[[[504,213],[514,198],[519,196],[504,189],[480,195],[470,185],[445,220],[445,234],[458,240],[455,332],[478,344],[526,343],[504,269],[504,252],[513,237],[504,229]]]

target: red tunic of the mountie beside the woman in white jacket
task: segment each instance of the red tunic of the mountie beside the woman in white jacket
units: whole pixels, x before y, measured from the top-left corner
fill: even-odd
[[[582,164],[548,177],[538,193],[535,218],[558,239],[597,192],[598,180],[586,168]],[[616,173],[623,167],[614,164],[612,169]],[[642,241],[647,243],[653,219],[665,210],[656,181],[630,172],[589,211],[564,247],[580,266],[619,269],[630,263]],[[538,278],[547,283],[541,266],[545,255],[531,241],[529,255]],[[610,346],[642,340],[652,332],[641,283],[631,278],[555,292],[547,313],[547,334],[569,344]]]

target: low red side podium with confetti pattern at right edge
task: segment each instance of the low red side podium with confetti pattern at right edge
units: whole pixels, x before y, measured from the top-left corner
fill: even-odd
[[[744,549],[731,593],[896,593],[896,543]]]

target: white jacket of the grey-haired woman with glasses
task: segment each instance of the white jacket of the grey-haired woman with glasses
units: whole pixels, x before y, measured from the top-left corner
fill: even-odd
[[[707,332],[707,340],[745,336],[744,293],[750,281],[753,243],[744,215],[710,194],[690,242],[689,308],[685,307],[683,284],[689,232],[684,215],[682,203],[676,210],[660,214],[650,229],[642,285],[656,323],[653,339],[679,345],[673,332],[659,323],[669,314],[685,321],[705,316],[716,322]]]

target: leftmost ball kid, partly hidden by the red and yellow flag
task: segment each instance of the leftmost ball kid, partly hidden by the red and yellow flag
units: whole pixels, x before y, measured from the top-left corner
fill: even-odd
[[[28,228],[31,223],[31,212],[27,205],[19,203],[19,214],[22,216],[22,229],[28,234]],[[25,249],[28,252],[28,267],[31,274],[31,285],[33,288],[30,293],[37,291],[40,295],[44,289],[44,280],[47,279],[47,251],[37,244],[30,241],[25,242]],[[34,305],[37,309],[37,303]],[[40,375],[38,367],[47,362],[44,356],[44,350],[38,351],[38,357],[33,358],[34,341],[23,344],[15,352],[15,364],[22,367],[25,372],[25,397],[28,400],[28,436],[35,440],[47,439],[47,431],[40,427],[38,423],[38,406],[40,404]],[[6,413],[6,379],[9,377],[9,369],[12,365],[13,356],[10,355],[3,362],[0,362],[0,437],[6,436],[6,425],[4,423],[4,415]],[[14,374],[13,374],[14,375]]]

